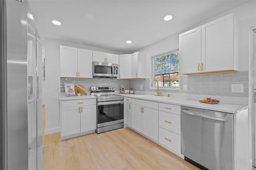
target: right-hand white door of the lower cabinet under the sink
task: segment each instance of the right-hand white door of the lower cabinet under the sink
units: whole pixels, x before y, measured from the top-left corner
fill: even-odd
[[[143,134],[158,142],[158,110],[143,107]]]

